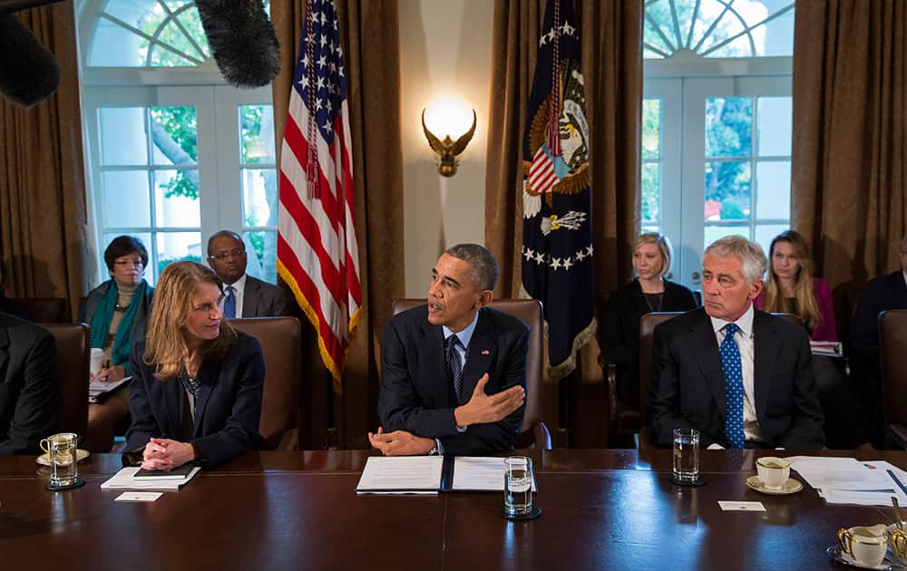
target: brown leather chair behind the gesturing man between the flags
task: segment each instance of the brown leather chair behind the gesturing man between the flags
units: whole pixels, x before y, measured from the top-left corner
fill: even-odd
[[[424,299],[398,299],[394,302],[393,313],[399,314],[417,305],[424,305]],[[535,299],[496,299],[489,307],[513,315],[529,325],[529,353],[526,354],[526,411],[522,417],[520,435],[516,447],[551,450],[551,432],[541,421],[541,382],[544,367],[543,338],[544,321],[541,303]]]

